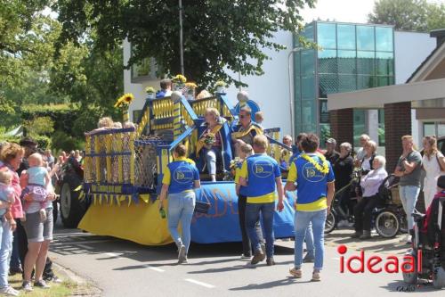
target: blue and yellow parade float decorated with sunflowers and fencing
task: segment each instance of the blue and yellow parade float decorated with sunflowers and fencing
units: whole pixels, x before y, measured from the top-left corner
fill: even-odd
[[[237,106],[231,106],[223,87],[214,96],[187,100],[193,90],[185,86],[185,78],[178,78],[172,96],[153,99],[153,90],[144,104],[135,125],[124,123],[124,128],[103,128],[87,133],[84,157],[84,181],[81,191],[69,191],[72,204],[88,203],[89,207],[78,227],[96,235],[110,235],[146,245],[172,243],[167,231],[167,220],[158,211],[158,194],[166,165],[173,161],[178,144],[188,147],[190,158],[204,168],[203,157],[197,158],[198,136],[203,131],[204,112],[216,108],[225,119],[220,129],[223,153],[218,161],[216,182],[206,181],[201,172],[201,190],[197,201],[209,203],[207,213],[195,212],[191,223],[191,240],[195,243],[223,243],[241,241],[238,216],[238,197],[231,178],[233,147],[231,125],[238,122],[239,109],[249,106],[259,111],[258,105],[239,95]],[[133,95],[124,95],[117,102],[124,120]],[[254,115],[255,113],[253,113]],[[270,140],[268,153],[279,161],[280,151],[289,149],[279,143],[279,128],[265,129]],[[80,186],[79,186],[80,188]],[[275,237],[294,234],[293,199],[285,199],[285,210],[275,213]],[[65,202],[67,203],[67,202]],[[62,206],[63,207],[63,206]]]

